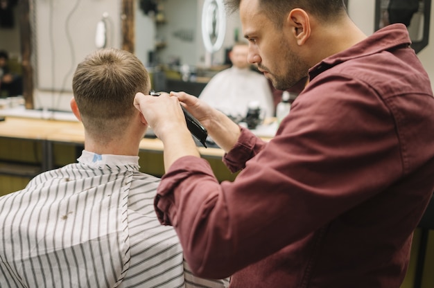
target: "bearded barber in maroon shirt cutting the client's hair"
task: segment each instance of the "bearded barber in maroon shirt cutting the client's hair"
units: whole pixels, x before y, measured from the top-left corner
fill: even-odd
[[[286,90],[268,143],[186,93],[138,93],[164,143],[155,209],[199,276],[230,287],[400,287],[434,190],[434,98],[403,24],[367,37],[342,0],[227,0],[248,59]],[[180,104],[242,170],[219,183]]]

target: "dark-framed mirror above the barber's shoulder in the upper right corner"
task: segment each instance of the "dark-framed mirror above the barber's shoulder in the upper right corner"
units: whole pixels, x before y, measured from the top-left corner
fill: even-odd
[[[407,26],[416,53],[428,45],[431,0],[376,0],[375,30],[389,24]]]

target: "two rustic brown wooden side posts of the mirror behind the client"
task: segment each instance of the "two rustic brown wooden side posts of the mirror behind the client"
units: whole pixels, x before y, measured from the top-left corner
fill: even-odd
[[[26,109],[34,109],[33,90],[33,66],[32,66],[32,37],[31,27],[31,1],[19,0],[19,38],[21,41],[21,67],[23,71],[23,97]],[[121,0],[121,48],[134,53],[134,0]]]

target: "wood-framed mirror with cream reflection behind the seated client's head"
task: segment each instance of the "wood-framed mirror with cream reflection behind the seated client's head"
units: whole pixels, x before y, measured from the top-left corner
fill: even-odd
[[[107,25],[109,46],[134,51],[134,1],[88,3],[64,0],[60,5],[58,1],[19,0],[23,95],[26,109],[38,109],[38,103],[45,101],[42,107],[69,110],[71,91],[65,88],[71,83],[69,68],[73,69],[76,65],[73,60],[83,59],[96,48],[95,27],[105,12],[108,12],[113,21]],[[37,15],[35,11],[38,12]],[[38,22],[36,16],[46,21]],[[71,17],[76,18],[69,21]],[[54,19],[58,19],[58,22],[49,26]],[[87,21],[80,21],[82,19]],[[45,37],[42,37],[43,35]],[[72,37],[74,41],[70,41]],[[51,52],[53,46],[55,53]],[[45,69],[42,71],[41,67]]]

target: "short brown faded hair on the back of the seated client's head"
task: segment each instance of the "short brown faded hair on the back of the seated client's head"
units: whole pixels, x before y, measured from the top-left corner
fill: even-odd
[[[73,95],[87,132],[98,136],[122,133],[136,115],[134,96],[148,93],[150,80],[144,64],[132,53],[104,48],[78,64]]]

